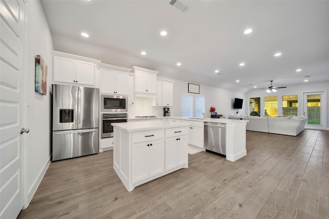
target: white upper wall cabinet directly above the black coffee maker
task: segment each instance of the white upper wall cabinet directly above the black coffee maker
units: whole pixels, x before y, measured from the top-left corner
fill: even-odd
[[[157,81],[155,106],[173,106],[173,83]]]

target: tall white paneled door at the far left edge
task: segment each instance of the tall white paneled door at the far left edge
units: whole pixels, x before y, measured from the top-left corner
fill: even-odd
[[[25,5],[0,2],[0,218],[23,208],[23,59]]]

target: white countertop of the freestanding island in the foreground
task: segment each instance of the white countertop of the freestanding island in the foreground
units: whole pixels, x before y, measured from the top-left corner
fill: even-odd
[[[148,130],[156,130],[156,129],[187,127],[190,124],[175,123],[168,121],[142,121],[142,122],[133,122],[133,123],[112,123],[111,125],[123,129],[126,132],[135,132],[135,131],[148,131]]]

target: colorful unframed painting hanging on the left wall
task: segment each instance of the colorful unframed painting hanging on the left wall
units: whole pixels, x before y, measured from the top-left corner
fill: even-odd
[[[47,95],[47,65],[40,55],[35,55],[35,92]]]

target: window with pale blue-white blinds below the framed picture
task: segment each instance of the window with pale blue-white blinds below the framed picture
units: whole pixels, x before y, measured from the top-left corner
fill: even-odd
[[[181,116],[202,117],[205,112],[205,97],[181,94]]]

